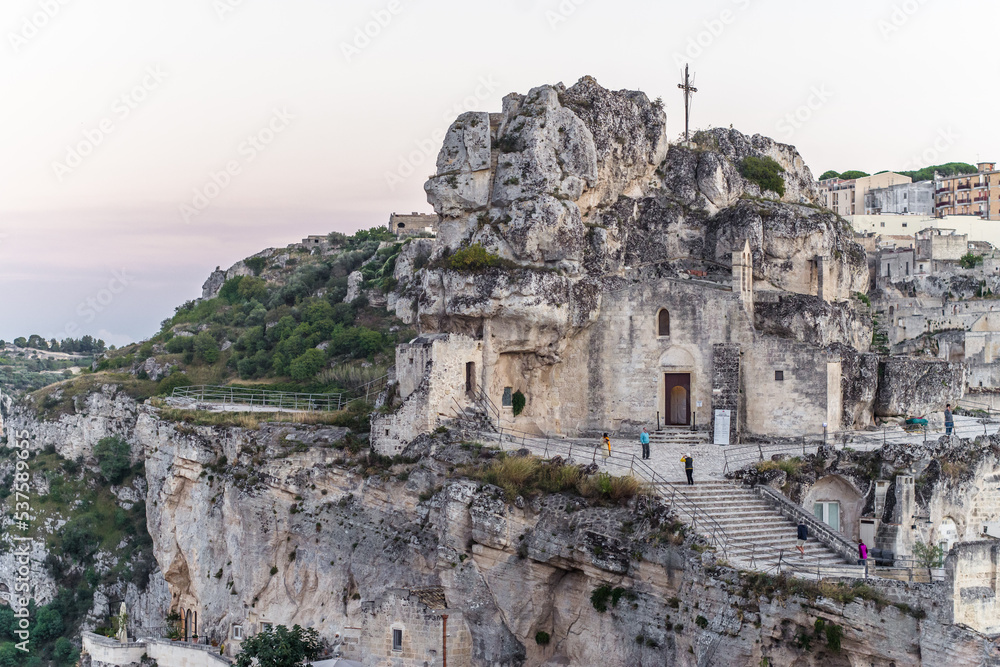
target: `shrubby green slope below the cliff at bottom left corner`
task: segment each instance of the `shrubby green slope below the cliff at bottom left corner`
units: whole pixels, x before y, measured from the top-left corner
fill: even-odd
[[[8,442],[8,445],[11,444]],[[146,529],[145,471],[131,464],[129,446],[115,437],[96,448],[99,472],[60,456],[55,447],[33,451],[22,460],[10,446],[0,447],[0,513],[3,530],[33,542],[4,539],[0,563],[11,565],[15,547],[32,544],[32,599],[29,653],[20,642],[14,611],[0,607],[0,666],[69,667],[79,657],[71,641],[81,627],[94,627],[121,600],[133,601],[156,569],[153,542]],[[14,523],[23,496],[13,494],[15,467],[30,471],[30,521]],[[18,506],[20,505],[20,507]],[[44,545],[44,546],[43,546]],[[44,562],[40,576],[37,561]],[[35,599],[46,604],[37,604]]]

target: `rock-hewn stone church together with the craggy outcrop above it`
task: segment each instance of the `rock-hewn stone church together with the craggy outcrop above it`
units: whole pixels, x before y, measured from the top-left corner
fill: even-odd
[[[396,313],[422,335],[397,350],[404,400],[373,423],[380,451],[493,408],[552,435],[711,429],[719,411],[730,442],[870,423],[851,230],[815,204],[793,147],[721,129],[668,145],[664,121],[590,78],[458,118],[425,186],[431,263],[398,265]],[[744,178],[750,159],[784,192]],[[459,261],[483,251],[491,266]]]

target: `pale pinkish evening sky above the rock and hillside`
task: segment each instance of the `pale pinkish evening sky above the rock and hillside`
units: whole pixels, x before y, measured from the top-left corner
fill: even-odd
[[[693,129],[794,144],[816,176],[998,160],[976,46],[998,22],[987,0],[4,0],[0,338],[142,340],[216,266],[431,212],[458,114],[584,75],[662,97],[673,140],[690,63]]]

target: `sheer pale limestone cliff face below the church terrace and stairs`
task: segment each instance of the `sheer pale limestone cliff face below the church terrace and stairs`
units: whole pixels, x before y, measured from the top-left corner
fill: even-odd
[[[75,426],[28,412],[14,421],[38,450],[68,438],[86,464],[82,424],[114,423],[116,403],[86,401]],[[225,637],[251,616],[330,636],[387,589],[440,585],[464,610],[476,665],[995,664],[988,642],[948,623],[934,587],[817,588],[738,573],[644,496],[621,506],[572,494],[510,500],[461,475],[490,452],[447,436],[393,462],[343,429],[128,413],[156,577],[169,588],[147,599],[158,613],[168,600],[199,610],[203,636]]]

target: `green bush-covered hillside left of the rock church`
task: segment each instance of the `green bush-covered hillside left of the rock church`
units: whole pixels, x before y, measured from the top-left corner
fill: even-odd
[[[145,399],[184,385],[232,382],[350,391],[381,377],[396,344],[413,333],[384,307],[396,257],[409,241],[397,242],[385,227],[332,233],[328,241],[239,262],[227,272],[235,275],[206,288],[213,294],[177,307],[155,336],[107,352],[84,377],[37,392],[36,405],[50,417],[72,414],[74,397],[101,384]],[[356,271],[355,294],[346,301]]]

